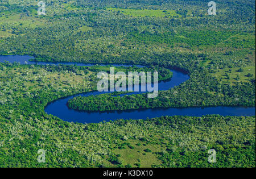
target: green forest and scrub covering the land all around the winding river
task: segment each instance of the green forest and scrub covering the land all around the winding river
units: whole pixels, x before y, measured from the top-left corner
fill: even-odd
[[[156,98],[72,98],[80,111],[255,106],[255,2],[218,0],[0,0],[0,55],[35,61],[131,64],[117,71],[178,69],[189,80]],[[65,122],[48,103],[96,90],[109,66],[0,62],[0,167],[255,167],[255,116],[159,116]],[[46,163],[38,163],[38,150]],[[215,149],[216,163],[208,163]]]

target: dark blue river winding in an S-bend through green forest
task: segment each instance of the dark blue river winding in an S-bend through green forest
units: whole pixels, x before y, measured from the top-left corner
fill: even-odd
[[[13,63],[14,61],[19,62],[20,64],[38,64],[38,65],[77,65],[77,66],[91,66],[94,64],[82,64],[82,63],[51,63],[51,62],[39,62],[29,61],[34,59],[31,56],[19,56],[19,55],[10,55],[10,56],[0,56],[0,63],[3,61],[9,61]],[[25,62],[26,61],[26,62]],[[101,64],[104,65],[104,64]],[[113,66],[131,66],[131,65],[119,65],[114,64]],[[142,65],[137,65],[138,67],[143,67]],[[183,72],[177,70],[171,70],[173,77],[170,81],[159,82],[159,91],[168,90],[181,84],[184,81],[189,79],[189,76]],[[138,92],[134,92],[138,93]],[[133,93],[133,94],[134,94]],[[159,116],[174,116],[174,115],[185,115],[185,116],[202,116],[208,114],[219,114],[223,116],[254,116],[255,107],[187,107],[187,108],[167,108],[167,109],[143,109],[143,110],[129,110],[129,111],[109,111],[109,112],[81,112],[69,109],[67,102],[69,99],[76,97],[78,95],[88,96],[88,95],[97,95],[102,94],[98,91],[93,91],[89,93],[82,93],[73,95],[71,97],[58,99],[52,103],[49,103],[45,111],[48,114],[55,115],[60,119],[63,119],[68,122],[80,122],[80,123],[97,123],[102,121],[116,120],[116,119],[147,119],[155,118]]]

